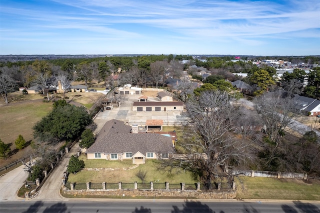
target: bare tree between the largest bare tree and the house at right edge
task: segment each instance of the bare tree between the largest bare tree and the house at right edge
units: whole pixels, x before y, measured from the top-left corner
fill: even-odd
[[[283,91],[266,92],[254,98],[255,108],[260,114],[261,125],[267,141],[278,146],[286,127],[294,122],[294,102],[290,96],[283,96]]]

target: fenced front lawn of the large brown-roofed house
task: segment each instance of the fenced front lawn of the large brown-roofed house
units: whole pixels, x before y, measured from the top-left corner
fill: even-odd
[[[85,157],[85,156],[84,156]],[[81,155],[81,159],[83,159]],[[93,182],[93,183],[101,183],[101,182],[123,182],[123,183],[132,183],[134,181],[141,182],[141,180],[135,176],[136,172],[139,169],[147,171],[146,174],[146,182],[153,181],[154,183],[194,183],[196,181],[193,180],[190,172],[173,172],[169,174],[163,170],[158,170],[157,160],[148,159],[145,164],[140,164],[136,168],[128,169],[132,167],[131,160],[101,160],[101,159],[90,159],[85,161],[86,168],[125,168],[125,170],[98,170],[98,171],[87,171],[82,170],[76,174],[69,174],[68,181],[69,182],[77,182],[77,183],[85,183],[85,182]]]

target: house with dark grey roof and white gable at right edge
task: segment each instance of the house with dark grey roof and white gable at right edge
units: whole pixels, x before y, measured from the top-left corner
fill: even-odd
[[[299,112],[304,112],[312,116],[320,114],[320,100],[311,97],[295,95],[293,97],[295,108]]]

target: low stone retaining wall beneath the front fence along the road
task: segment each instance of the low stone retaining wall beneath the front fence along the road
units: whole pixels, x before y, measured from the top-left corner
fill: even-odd
[[[233,199],[236,196],[235,190],[203,192],[196,190],[110,190],[110,189],[89,189],[69,190],[62,188],[63,193],[70,195],[112,195],[112,196],[149,196],[149,197],[196,197],[198,199]]]

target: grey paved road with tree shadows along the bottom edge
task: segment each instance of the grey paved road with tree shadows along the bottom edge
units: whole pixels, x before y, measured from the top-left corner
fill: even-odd
[[[133,212],[133,213],[213,213],[213,212],[320,212],[320,204],[312,202],[245,202],[245,201],[203,201],[203,200],[76,200],[35,201],[1,203],[1,212]]]

